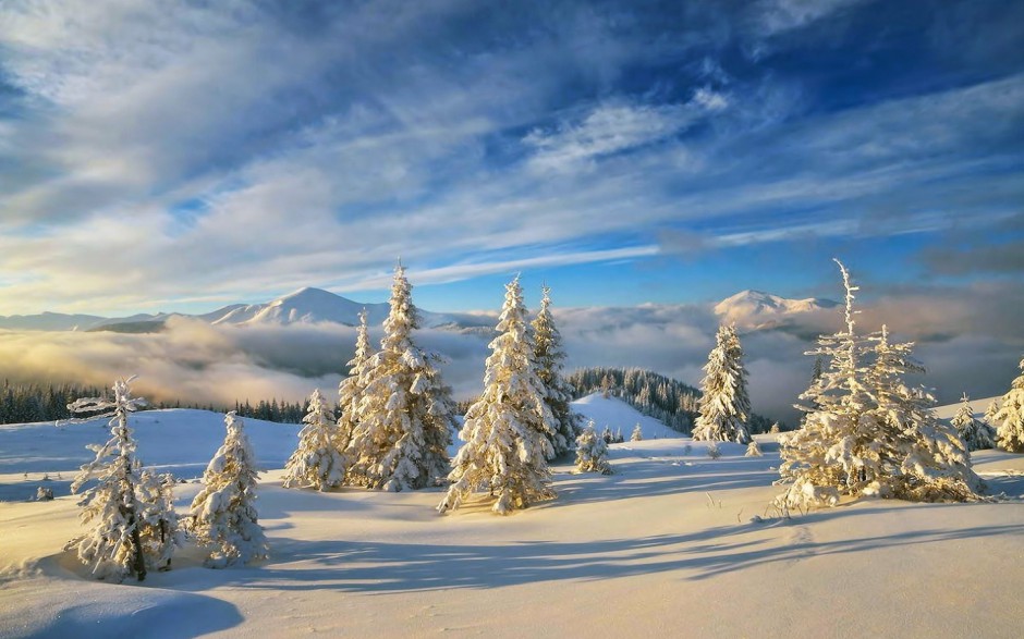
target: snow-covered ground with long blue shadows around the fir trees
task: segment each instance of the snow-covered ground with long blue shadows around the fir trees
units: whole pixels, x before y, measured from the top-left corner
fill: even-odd
[[[171,572],[105,583],[61,550],[74,496],[0,503],[0,637],[1020,636],[1024,456],[975,455],[1005,502],[862,500],[779,519],[776,435],[757,435],[764,457],[723,444],[712,460],[615,400],[576,407],[626,437],[639,422],[645,440],[610,447],[615,475],[557,464],[559,497],[510,517],[437,515],[440,489],[282,489],[297,427],[246,420],[275,468],[259,496],[272,556],[247,568],[203,568],[187,548]],[[184,478],[224,432],[203,411],[133,420],[139,457]],[[24,500],[42,474],[69,481],[103,439],[95,425],[0,427],[0,499]],[[179,507],[198,489],[181,484]]]

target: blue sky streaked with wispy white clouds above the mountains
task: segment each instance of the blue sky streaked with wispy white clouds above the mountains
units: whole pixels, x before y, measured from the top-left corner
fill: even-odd
[[[838,297],[832,256],[1020,302],[1022,41],[1013,1],[4,2],[0,315],[381,300],[399,256],[438,310]]]

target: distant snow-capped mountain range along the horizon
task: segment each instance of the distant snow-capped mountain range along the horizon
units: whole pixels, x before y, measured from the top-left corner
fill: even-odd
[[[838,303],[828,299],[787,299],[759,291],[743,291],[715,305],[714,312],[722,321],[733,322],[743,330],[760,330],[784,328],[797,320],[813,319],[821,311],[833,310],[837,306]],[[0,329],[151,333],[161,330],[171,317],[237,327],[321,322],[356,325],[364,308],[370,325],[379,325],[388,316],[387,303],[359,304],[328,291],[306,287],[266,304],[232,304],[203,315],[160,312],[107,318],[42,312],[0,316]],[[425,328],[477,333],[489,331],[495,324],[495,316],[491,315],[441,314],[422,309],[419,312]]]

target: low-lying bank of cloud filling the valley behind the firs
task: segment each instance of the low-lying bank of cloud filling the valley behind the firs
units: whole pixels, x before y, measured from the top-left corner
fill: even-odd
[[[983,292],[984,293],[984,292]],[[916,356],[928,368],[919,381],[935,386],[942,403],[967,392],[1003,393],[1016,374],[1024,340],[998,315],[971,312],[971,304],[942,304],[911,294],[888,296],[858,317],[863,330],[883,318],[898,339],[917,340]],[[977,308],[977,307],[974,307]],[[840,321],[820,314],[803,323],[742,334],[754,409],[792,420],[792,404],[806,389],[813,335]],[[698,305],[575,308],[558,311],[570,368],[622,366],[651,369],[699,385],[714,345],[718,318]],[[958,331],[956,325],[970,325]],[[371,331],[376,342],[380,329]],[[456,397],[479,391],[489,336],[480,332],[422,330],[417,341],[448,362],[444,378]],[[352,357],[355,329],[340,324],[288,327],[210,325],[173,318],[160,333],[0,331],[0,374],[11,380],[109,385],[138,374],[137,394],[155,401],[232,405],[235,400],[297,401],[314,388],[332,394]]]

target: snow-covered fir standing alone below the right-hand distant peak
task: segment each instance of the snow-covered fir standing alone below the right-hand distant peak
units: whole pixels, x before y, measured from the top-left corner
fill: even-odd
[[[695,441],[751,441],[751,398],[746,391],[743,348],[732,325],[722,325],[708,354],[700,382],[700,415],[693,428]]]

